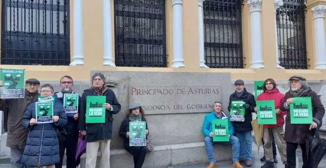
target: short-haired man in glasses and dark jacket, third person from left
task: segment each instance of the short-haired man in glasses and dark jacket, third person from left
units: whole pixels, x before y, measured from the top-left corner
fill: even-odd
[[[74,86],[73,78],[70,76],[64,76],[60,79],[60,88],[61,91],[56,92],[54,97],[58,102],[64,102],[64,94],[66,93],[75,93],[72,90]],[[78,96],[78,107],[81,104],[81,96]],[[67,155],[67,168],[76,168],[78,165],[76,163],[76,147],[78,143],[79,129],[78,129],[78,118],[79,113],[66,113],[68,123],[64,126],[63,130],[60,130],[60,135],[64,138],[59,138],[59,148],[60,148],[60,163],[55,165],[55,168],[62,168],[62,160],[66,151]]]

